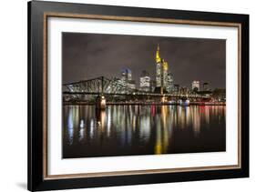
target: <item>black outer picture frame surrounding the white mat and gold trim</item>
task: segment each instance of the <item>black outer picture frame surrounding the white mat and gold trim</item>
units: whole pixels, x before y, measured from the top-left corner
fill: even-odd
[[[249,15],[179,11],[112,5],[84,5],[56,2],[28,2],[28,190],[53,190],[80,187],[110,187],[166,182],[249,177]],[[133,18],[175,19],[179,21],[235,23],[241,26],[241,167],[232,169],[190,170],[149,174],[115,174],[103,177],[46,177],[46,81],[44,41],[46,13],[68,15],[107,15]],[[108,19],[108,18],[107,18]],[[135,21],[136,22],[136,21]],[[46,42],[45,42],[46,43]]]

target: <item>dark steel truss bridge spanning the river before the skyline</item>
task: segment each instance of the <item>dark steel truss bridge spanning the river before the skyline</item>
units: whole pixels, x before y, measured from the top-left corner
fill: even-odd
[[[194,99],[204,99],[209,98],[209,96],[200,96],[197,94],[174,94],[174,93],[151,93],[145,92],[138,89],[133,89],[128,86],[124,86],[121,79],[116,77],[107,78],[104,76],[99,76],[97,78],[92,78],[88,80],[78,81],[70,84],[63,85],[62,88],[63,96],[65,99],[91,99],[96,96],[107,96],[107,97],[161,97],[167,96],[172,98],[194,98]],[[82,98],[83,97],[83,98]]]

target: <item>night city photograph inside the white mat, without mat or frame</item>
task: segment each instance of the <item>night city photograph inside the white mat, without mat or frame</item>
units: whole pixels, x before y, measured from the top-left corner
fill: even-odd
[[[226,151],[225,40],[62,42],[63,158]]]

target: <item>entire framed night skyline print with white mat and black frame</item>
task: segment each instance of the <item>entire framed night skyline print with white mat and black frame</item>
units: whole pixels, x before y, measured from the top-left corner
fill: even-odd
[[[28,189],[249,177],[249,15],[28,3]]]

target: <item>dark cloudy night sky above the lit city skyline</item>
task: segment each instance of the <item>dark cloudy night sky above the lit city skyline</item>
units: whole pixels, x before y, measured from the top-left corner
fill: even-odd
[[[174,83],[189,86],[193,80],[225,87],[226,41],[141,35],[63,33],[63,84],[97,76],[121,76],[129,68],[139,86],[142,70],[155,80],[157,45],[169,62]]]

